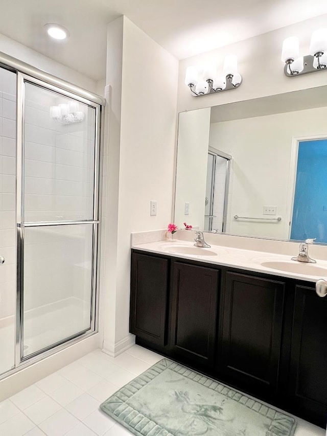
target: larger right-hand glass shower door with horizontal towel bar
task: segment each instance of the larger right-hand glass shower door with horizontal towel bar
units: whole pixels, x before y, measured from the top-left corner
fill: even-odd
[[[95,329],[99,108],[24,76],[21,89],[24,360]]]

